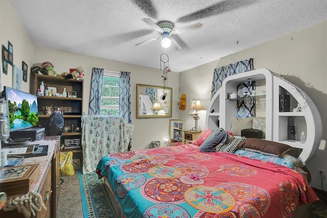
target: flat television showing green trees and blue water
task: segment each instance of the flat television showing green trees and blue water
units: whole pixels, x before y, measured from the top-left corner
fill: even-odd
[[[8,102],[10,131],[39,125],[36,95],[7,86],[2,95]]]

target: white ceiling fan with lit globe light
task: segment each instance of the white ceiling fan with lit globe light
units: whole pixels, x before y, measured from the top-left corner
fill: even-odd
[[[145,45],[145,44],[147,44],[149,42],[152,42],[152,41],[155,41],[155,40],[157,40],[159,38],[162,38],[161,46],[164,47],[164,48],[172,46],[175,51],[180,50],[181,47],[176,42],[176,40],[171,37],[172,34],[173,35],[178,35],[178,34],[185,33],[185,32],[190,32],[190,31],[193,31],[193,30],[199,30],[202,27],[202,24],[198,22],[198,23],[194,23],[193,25],[181,27],[181,28],[178,28],[178,29],[174,30],[174,25],[170,21],[161,21],[158,24],[156,24],[155,22],[153,22],[149,18],[143,18],[142,21],[147,23],[147,25],[152,27],[154,30],[156,30],[158,32],[159,36],[156,36],[156,37],[153,37],[151,39],[140,42],[138,44],[135,44],[135,46]]]

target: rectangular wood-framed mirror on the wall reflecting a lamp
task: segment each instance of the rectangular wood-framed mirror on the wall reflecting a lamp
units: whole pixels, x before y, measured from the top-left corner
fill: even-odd
[[[136,118],[172,117],[173,89],[136,84]]]

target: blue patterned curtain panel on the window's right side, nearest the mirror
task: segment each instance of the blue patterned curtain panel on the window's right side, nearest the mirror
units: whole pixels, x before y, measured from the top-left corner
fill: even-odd
[[[132,123],[130,74],[130,72],[121,71],[119,78],[119,115],[129,124]]]

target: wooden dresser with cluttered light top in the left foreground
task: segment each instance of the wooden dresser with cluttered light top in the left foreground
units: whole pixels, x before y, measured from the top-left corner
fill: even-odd
[[[60,193],[60,136],[45,136],[44,140],[31,143],[49,144],[47,156],[25,158],[21,163],[21,165],[39,163],[41,167],[41,173],[33,183],[30,191],[35,191],[41,195],[46,209],[42,208],[41,211],[38,211],[36,217],[56,217]],[[14,197],[17,196],[8,196],[7,199]],[[4,208],[0,211],[0,217],[25,218],[24,214],[19,213],[16,209],[4,211]]]

